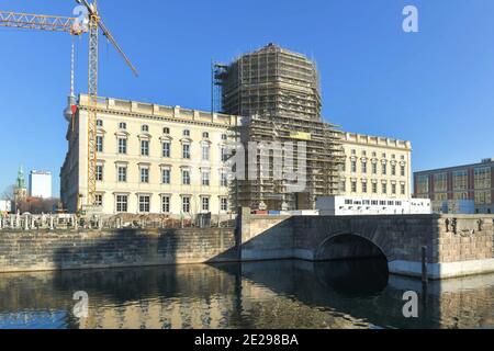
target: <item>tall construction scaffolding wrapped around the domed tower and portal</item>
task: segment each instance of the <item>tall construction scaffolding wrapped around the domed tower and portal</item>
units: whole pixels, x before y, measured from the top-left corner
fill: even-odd
[[[213,77],[213,84],[222,87],[223,112],[245,116],[243,125],[233,128],[234,138],[245,149],[249,143],[260,146],[249,151],[256,152],[254,158],[246,157],[249,179],[232,181],[233,204],[255,210],[311,210],[317,196],[338,193],[341,133],[322,120],[318,73],[311,60],[269,44],[231,65],[215,65]],[[288,149],[291,145],[293,152]],[[248,170],[249,166],[252,169],[249,158],[257,160],[254,172]],[[281,177],[273,167],[280,162]],[[304,189],[293,191],[293,182],[301,179]]]

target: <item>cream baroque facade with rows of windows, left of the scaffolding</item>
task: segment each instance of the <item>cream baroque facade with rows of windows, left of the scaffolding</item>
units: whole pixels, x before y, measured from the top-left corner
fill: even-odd
[[[60,194],[87,203],[88,97],[68,126]],[[228,128],[239,117],[110,98],[98,105],[97,206],[104,214],[225,214]]]

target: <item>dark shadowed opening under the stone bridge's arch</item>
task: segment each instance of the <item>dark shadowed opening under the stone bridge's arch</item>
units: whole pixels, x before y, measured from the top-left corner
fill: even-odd
[[[316,248],[315,261],[383,258],[391,261],[385,244],[379,236],[368,237],[357,233],[338,233],[326,237]]]

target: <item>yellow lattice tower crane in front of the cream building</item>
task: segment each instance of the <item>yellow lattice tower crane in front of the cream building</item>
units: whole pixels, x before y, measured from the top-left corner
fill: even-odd
[[[29,13],[15,13],[0,11],[0,26],[40,30],[50,32],[66,32],[71,35],[89,33],[89,75],[88,75],[88,207],[96,204],[97,188],[97,113],[98,113],[98,35],[103,33],[106,39],[113,44],[114,48],[122,55],[123,59],[137,76],[137,70],[132,65],[128,57],[116,43],[113,35],[104,25],[98,12],[98,1],[89,3],[87,0],[76,0],[79,3],[81,16],[56,16]]]

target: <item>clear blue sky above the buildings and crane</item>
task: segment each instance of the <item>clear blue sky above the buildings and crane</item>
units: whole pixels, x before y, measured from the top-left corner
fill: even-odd
[[[100,95],[209,110],[211,60],[273,42],[317,61],[327,121],[412,140],[414,170],[494,157],[494,1],[99,2],[141,73],[102,39]],[[75,4],[2,0],[0,10],[71,15]],[[402,31],[406,4],[418,8],[419,33]],[[0,27],[0,193],[21,163],[52,171],[58,193],[71,42]],[[76,46],[76,89],[86,92],[87,38]]]

